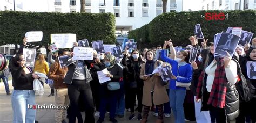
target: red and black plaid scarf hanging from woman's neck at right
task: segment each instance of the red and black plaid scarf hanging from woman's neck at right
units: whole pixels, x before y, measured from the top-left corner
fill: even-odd
[[[197,98],[201,98],[201,87],[203,85],[204,73],[205,71],[202,71],[198,79]],[[212,90],[207,102],[208,105],[211,104],[214,107],[224,108],[227,91],[226,84],[227,78],[225,74],[224,59],[219,59],[215,70],[215,79],[212,84]]]

